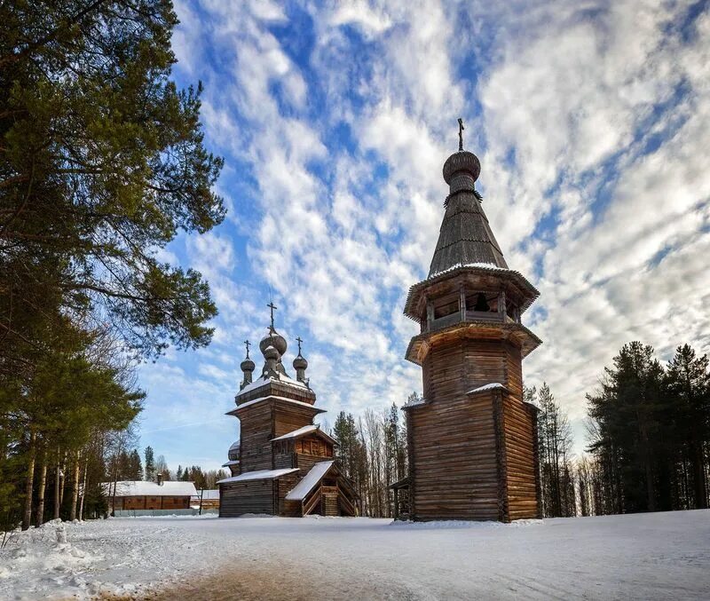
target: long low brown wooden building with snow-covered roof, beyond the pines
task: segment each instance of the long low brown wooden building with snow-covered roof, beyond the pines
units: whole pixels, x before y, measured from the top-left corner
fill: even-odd
[[[197,495],[192,482],[122,480],[101,485],[110,510],[189,510]],[[115,503],[114,503],[115,500]]]

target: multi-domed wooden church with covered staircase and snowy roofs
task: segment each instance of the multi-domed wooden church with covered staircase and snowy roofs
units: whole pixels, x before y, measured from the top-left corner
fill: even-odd
[[[313,418],[324,409],[314,407],[315,392],[305,377],[308,362],[301,354],[293,362],[296,379],[288,376],[281,358],[287,343],[273,327],[259,344],[264,355],[262,374],[247,357],[241,362],[244,379],[236,405],[227,415],[240,420],[241,435],[229,449],[225,463],[232,477],[217,482],[219,516],[248,513],[303,517],[356,515],[356,493],[334,462],[335,441]]]

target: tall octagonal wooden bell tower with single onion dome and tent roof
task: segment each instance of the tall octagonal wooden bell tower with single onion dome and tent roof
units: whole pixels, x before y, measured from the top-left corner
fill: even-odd
[[[423,399],[407,404],[407,513],[415,520],[540,517],[537,407],[524,402],[522,360],[540,344],[521,316],[539,296],[509,269],[476,190],[481,165],[463,150],[449,186],[429,276],[405,314],[420,324],[406,359],[422,367]]]

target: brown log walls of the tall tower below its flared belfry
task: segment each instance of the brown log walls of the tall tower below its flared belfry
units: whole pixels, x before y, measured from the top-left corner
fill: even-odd
[[[517,346],[454,332],[422,368],[428,403],[407,411],[414,518],[535,517],[534,424]],[[493,382],[510,395],[467,394]]]

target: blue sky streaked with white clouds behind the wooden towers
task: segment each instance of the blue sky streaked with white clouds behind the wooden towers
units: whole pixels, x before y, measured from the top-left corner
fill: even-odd
[[[622,344],[710,352],[707,4],[491,4],[176,3],[175,78],[204,83],[229,215],[160,252],[204,274],[220,314],[209,348],[141,366],[141,447],[172,468],[225,461],[270,297],[330,423],[421,391],[402,308],[459,116],[493,231],[541,292],[525,380],[548,381],[578,452],[585,392]]]

